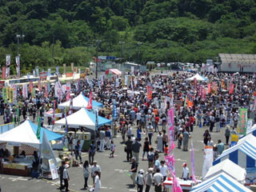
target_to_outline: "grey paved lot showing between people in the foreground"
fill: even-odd
[[[201,176],[202,173],[202,162],[203,162],[203,143],[202,143],[202,134],[206,128],[194,128],[194,132],[191,133],[192,140],[194,143],[195,150],[195,169],[196,175]],[[134,135],[135,134],[135,130]],[[157,134],[154,134],[155,140]],[[212,133],[212,138],[214,142],[218,141],[218,138],[221,138],[224,141],[224,130],[220,133]],[[146,135],[142,135],[142,142]],[[110,152],[98,152],[95,155],[95,159],[98,161],[98,165],[102,168],[102,191],[136,191],[135,188],[130,186],[132,183],[130,178],[127,175],[127,171],[130,170],[130,162],[126,162],[126,154],[124,152],[124,146],[121,143],[121,135],[118,134],[117,138],[114,138],[114,142],[117,145],[115,157],[110,158]],[[176,142],[177,143],[177,142]],[[156,148],[156,144],[153,143],[153,147]],[[189,145],[190,149],[190,145]],[[57,151],[56,151],[57,152]],[[142,156],[142,149],[140,156]],[[160,158],[163,159],[164,154],[160,155]],[[177,176],[182,175],[182,163],[186,162],[190,168],[190,151],[184,152],[179,149],[174,149],[174,156],[176,159],[176,172]],[[142,157],[141,157],[142,158]],[[82,154],[82,160],[88,159],[86,153]],[[140,159],[138,169],[147,170],[147,162]],[[191,171],[191,169],[190,169]],[[191,172],[190,172],[191,173]],[[70,190],[71,191],[82,191],[84,179],[82,175],[82,166],[81,167],[70,167]],[[31,179],[18,177],[13,175],[0,174],[0,185],[2,191],[58,191],[59,180],[45,180],[45,179]],[[92,185],[92,179],[89,178],[89,184]],[[151,189],[153,191],[153,189]]]

